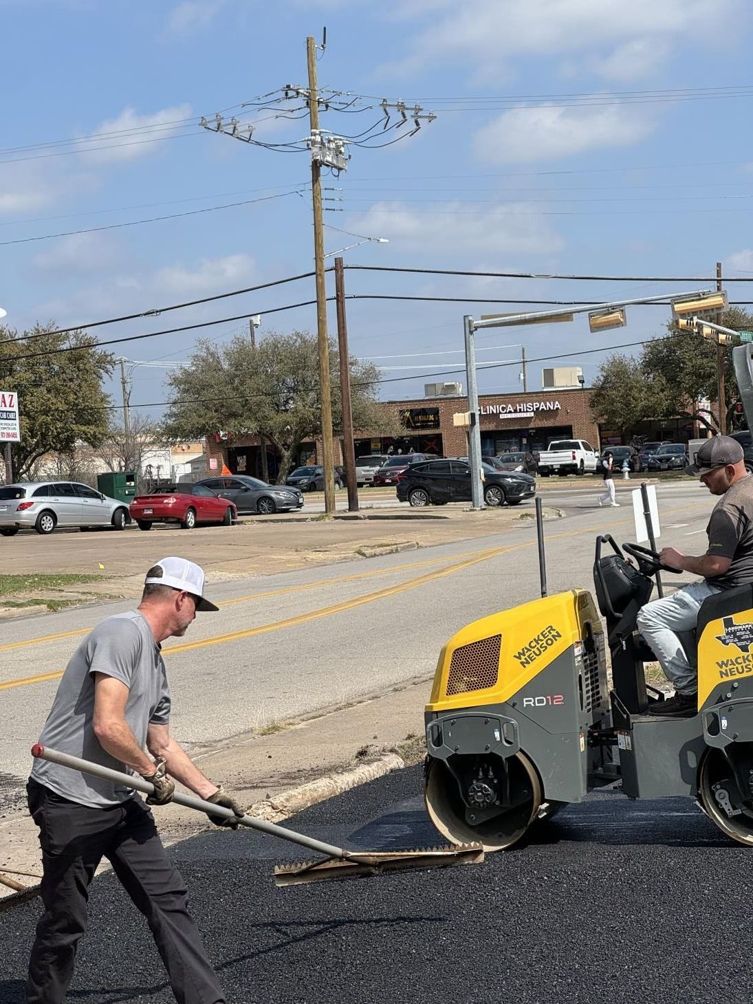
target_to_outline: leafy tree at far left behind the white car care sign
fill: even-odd
[[[55,334],[36,324],[19,337],[0,325],[0,387],[18,394],[21,439],[12,446],[13,473],[24,478],[46,453],[71,453],[77,443],[97,446],[110,421],[102,381],[112,371],[109,352],[82,331]],[[70,351],[54,349],[72,346]]]

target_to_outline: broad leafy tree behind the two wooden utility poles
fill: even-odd
[[[338,365],[330,342],[335,432],[342,428]],[[354,427],[393,432],[394,423],[376,400],[376,366],[351,357],[349,367]],[[280,482],[301,444],[321,433],[317,341],[308,331],[270,333],[256,348],[241,336],[225,345],[202,340],[189,365],[168,380],[173,395],[165,420],[168,436],[194,439],[223,432],[228,445],[234,437],[264,436],[280,457]]]

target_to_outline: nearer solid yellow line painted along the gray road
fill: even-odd
[[[680,509],[671,509],[669,512],[681,511]],[[630,519],[619,520],[616,524],[612,523],[611,526],[623,526],[630,523]],[[549,534],[547,539],[557,540],[564,537],[577,537],[582,536],[585,533],[599,532],[600,527],[586,526],[579,530],[568,530],[563,533],[553,533]],[[497,557],[501,554],[507,554],[511,551],[521,550],[525,547],[532,547],[536,543],[536,540],[527,540],[519,544],[513,544],[502,547],[494,547],[488,550],[480,552],[468,552],[473,553],[474,556],[468,560],[456,562],[455,564],[450,564],[445,568],[440,568],[437,571],[428,572],[426,575],[421,575],[419,578],[410,579],[408,582],[402,582],[398,585],[388,586],[386,589],[380,589],[376,592],[369,592],[363,596],[357,596],[354,599],[346,599],[341,603],[335,603],[333,606],[323,606],[317,610],[311,610],[308,613],[301,613],[295,617],[287,617],[284,620],[274,620],[268,624],[261,624],[258,628],[249,628],[244,631],[231,632],[227,635],[216,635],[212,638],[203,639],[197,642],[188,642],[185,645],[175,645],[171,648],[164,650],[164,655],[169,656],[172,653],[180,652],[190,652],[193,649],[203,649],[212,645],[223,645],[227,642],[236,642],[244,638],[253,638],[256,635],[265,635],[273,631],[282,631],[286,628],[294,628],[298,624],[307,623],[310,620],[316,620],[320,617],[331,616],[334,613],[340,613],[344,610],[354,609],[357,606],[362,606],[365,603],[374,602],[378,599],[385,599],[388,596],[394,596],[401,592],[406,592],[409,589],[415,589],[420,585],[425,585],[427,582],[432,582],[438,578],[443,578],[446,575],[451,575],[456,571],[463,571],[465,568],[470,568],[475,564],[479,564],[482,561],[487,561],[489,558]],[[416,565],[421,564],[432,564],[432,561],[426,562],[415,562]],[[406,565],[398,565],[396,568],[407,567]],[[378,572],[364,572],[363,575],[376,574]],[[345,579],[360,578],[363,575],[351,575],[345,576]],[[329,580],[332,581],[332,580]],[[291,586],[291,589],[297,589],[298,586]],[[275,590],[279,591],[279,590]],[[264,594],[262,594],[264,595]],[[43,683],[47,680],[58,680],[63,675],[62,670],[58,670],[54,673],[42,673],[31,677],[21,677],[16,680],[8,680],[5,683],[0,683],[0,690],[10,690],[14,687],[24,687],[28,684]]]

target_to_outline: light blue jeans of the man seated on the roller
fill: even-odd
[[[698,692],[698,654],[693,633],[701,603],[715,592],[721,592],[716,585],[693,582],[678,589],[674,596],[647,603],[638,614],[638,630],[678,694]]]

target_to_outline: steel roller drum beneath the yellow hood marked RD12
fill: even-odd
[[[541,782],[525,753],[516,753],[505,763],[510,793],[517,804],[476,825],[470,818],[473,809],[461,797],[458,782],[445,762],[430,759],[424,800],[443,836],[454,843],[482,843],[484,850],[506,850],[525,836],[541,805]]]

